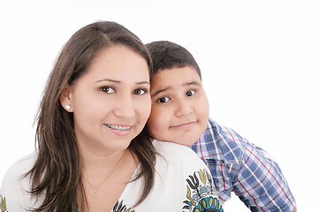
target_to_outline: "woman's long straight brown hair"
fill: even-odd
[[[73,116],[59,99],[64,88],[86,72],[98,51],[116,44],[124,44],[144,57],[151,75],[148,49],[135,34],[114,22],[98,21],[82,27],[57,57],[36,117],[37,160],[25,175],[31,178],[29,193],[41,201],[38,208],[32,208],[34,211],[77,211],[85,201]],[[154,185],[155,150],[143,132],[132,140],[129,150],[140,161],[137,178],[144,178],[139,204]]]

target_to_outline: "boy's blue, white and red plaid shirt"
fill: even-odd
[[[233,191],[251,211],[292,211],[296,206],[274,159],[233,130],[209,119],[192,148],[208,165],[222,203]]]

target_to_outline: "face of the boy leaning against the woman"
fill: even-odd
[[[151,81],[148,129],[157,140],[191,146],[208,125],[208,99],[192,66],[165,69]]]

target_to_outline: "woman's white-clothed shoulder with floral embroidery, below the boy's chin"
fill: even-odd
[[[155,200],[173,193],[165,201],[169,206],[166,210],[201,211],[200,207],[205,204],[211,211],[223,211],[208,167],[191,148],[160,140],[154,140],[153,145],[158,155],[152,191]]]

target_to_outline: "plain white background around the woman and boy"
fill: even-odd
[[[106,2],[1,1],[0,180],[34,149],[35,112],[64,42],[102,19],[123,24],[145,43],[169,40],[192,52],[210,117],[276,158],[299,211],[316,208],[315,1]],[[224,209],[248,211],[234,194]]]

